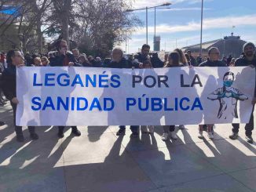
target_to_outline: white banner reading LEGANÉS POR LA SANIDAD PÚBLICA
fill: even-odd
[[[20,67],[17,125],[247,123],[255,69]]]

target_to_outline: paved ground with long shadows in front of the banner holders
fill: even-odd
[[[177,130],[179,139],[164,143],[154,136],[117,137],[118,127],[38,128],[40,138],[17,143],[12,110],[0,108],[0,191],[256,191],[256,145],[228,139],[231,125],[217,125],[215,139],[197,138],[197,127]],[[254,139],[256,139],[254,131]]]

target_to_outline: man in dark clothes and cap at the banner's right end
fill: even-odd
[[[254,55],[255,51],[255,45],[252,42],[247,42],[243,45],[243,56],[240,56],[235,61],[235,67],[243,67],[243,66],[251,66],[255,67],[256,66],[256,56]],[[256,103],[256,89],[254,89],[254,100],[252,100],[252,104]],[[240,129],[239,124],[232,124],[232,135],[229,136],[230,139],[237,139],[238,138],[238,132]],[[253,143],[254,139],[252,138],[252,130],[254,129],[254,107],[251,112],[251,118],[249,123],[245,125],[245,134],[246,134],[246,139],[248,143]]]

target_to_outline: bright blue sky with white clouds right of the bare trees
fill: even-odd
[[[170,2],[171,9],[156,9],[156,35],[161,36],[160,49],[171,51],[177,47],[200,42],[201,0],[135,0],[133,8],[161,5]],[[133,12],[144,26],[128,41],[127,53],[135,53],[146,42],[146,12]],[[148,10],[148,44],[153,49],[154,9]],[[235,26],[235,28],[232,28]],[[255,0],[204,0],[203,42],[240,35],[241,39],[256,43]],[[126,43],[121,47],[126,50]]]

